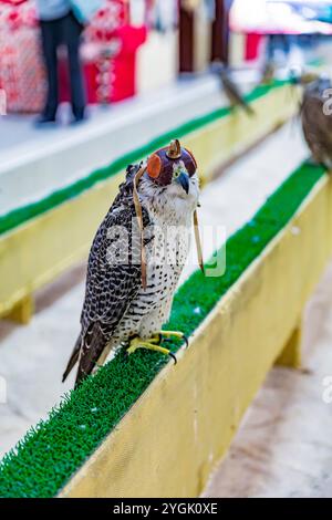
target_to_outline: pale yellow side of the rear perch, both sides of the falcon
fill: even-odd
[[[256,117],[236,110],[181,139],[195,152],[205,183],[293,115],[297,103],[290,89],[273,89],[253,102]],[[0,316],[28,323],[33,292],[86,257],[123,176],[111,177],[0,237]]]

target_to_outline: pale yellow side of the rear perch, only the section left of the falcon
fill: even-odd
[[[28,323],[27,298],[87,256],[120,180],[113,177],[0,237],[0,316]]]

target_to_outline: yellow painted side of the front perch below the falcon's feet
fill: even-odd
[[[279,360],[298,366],[303,306],[331,256],[331,181],[222,298],[60,497],[197,497]]]

